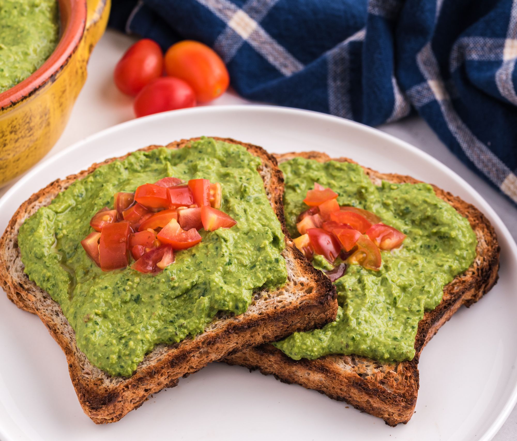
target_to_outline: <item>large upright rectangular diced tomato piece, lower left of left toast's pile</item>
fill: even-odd
[[[131,228],[128,222],[104,225],[99,241],[99,261],[102,271],[117,270],[127,266],[130,232]]]

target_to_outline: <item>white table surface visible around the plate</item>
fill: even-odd
[[[116,62],[133,41],[135,39],[111,30],[102,37],[90,58],[88,79],[73,108],[67,128],[48,153],[47,158],[88,135],[133,118],[133,100],[115,88],[112,76]],[[229,92],[210,103],[210,105],[225,104],[250,104],[250,102]],[[382,125],[379,129],[431,154],[464,178],[491,204],[503,219],[514,240],[517,240],[517,209],[508,199],[460,162],[422,119],[407,118],[401,122]],[[49,177],[49,181],[53,178]],[[11,185],[12,183],[0,188],[0,196]],[[508,420],[493,439],[494,441],[517,439],[517,407],[513,409]]]

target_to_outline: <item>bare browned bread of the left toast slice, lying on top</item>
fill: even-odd
[[[181,140],[168,148],[187,148],[199,138]],[[0,286],[19,308],[35,313],[47,326],[52,337],[66,354],[70,377],[81,406],[96,423],[114,422],[139,407],[151,393],[173,387],[181,376],[187,376],[224,357],[232,350],[278,340],[296,330],[312,329],[334,320],[337,312],[336,290],[320,271],[303,258],[293,245],[285,228],[282,206],[283,178],[277,161],[261,147],[232,139],[216,138],[239,144],[262,160],[258,170],[271,207],[277,214],[285,234],[282,255],[287,264],[287,284],[277,291],[256,292],[248,310],[240,316],[219,314],[204,332],[174,345],[158,345],[147,354],[131,377],[114,377],[90,364],[75,340],[72,327],[59,304],[38,288],[23,272],[17,237],[24,220],[38,208],[47,206],[72,182],[86,177],[97,167],[94,164],[77,175],[56,180],[26,200],[11,218],[0,239]],[[150,146],[151,150],[159,146]]]

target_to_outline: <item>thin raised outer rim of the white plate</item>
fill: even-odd
[[[80,149],[83,147],[83,145],[94,142],[96,139],[108,136],[112,133],[116,133],[118,131],[124,131],[128,127],[133,127],[138,125],[145,125],[149,121],[159,121],[160,119],[168,120],[171,117],[175,116],[183,116],[183,115],[189,115],[192,114],[194,117],[196,115],[202,115],[206,113],[221,113],[221,112],[264,112],[264,113],[279,113],[279,114],[286,114],[286,115],[307,115],[309,117],[315,118],[315,119],[322,119],[322,120],[330,120],[333,122],[337,122],[341,125],[344,125],[347,127],[347,130],[358,130],[362,131],[364,133],[368,133],[370,135],[373,135],[379,139],[384,139],[389,141],[390,143],[397,144],[399,147],[403,148],[406,151],[410,151],[413,154],[417,154],[420,156],[420,158],[425,161],[431,163],[433,166],[439,168],[443,172],[445,172],[448,176],[450,176],[454,181],[456,181],[458,184],[460,184],[464,190],[472,196],[476,203],[480,203],[482,205],[482,212],[490,218],[490,221],[496,226],[497,230],[502,233],[504,239],[509,244],[508,252],[510,254],[513,254],[514,257],[517,258],[517,245],[515,244],[515,241],[510,234],[508,228],[504,224],[503,220],[499,217],[499,215],[495,212],[495,210],[490,206],[490,204],[475,190],[475,188],[470,185],[464,178],[462,178],[460,175],[458,175],[455,171],[447,167],[444,163],[438,161],[436,158],[434,158],[429,153],[413,146],[412,144],[408,143],[407,141],[404,141],[400,138],[397,138],[396,136],[393,136],[389,133],[383,132],[381,130],[378,130],[376,128],[370,127],[368,125],[355,122],[352,120],[340,118],[333,115],[323,114],[320,112],[315,111],[308,111],[305,109],[298,109],[298,108],[292,108],[292,107],[282,107],[282,106],[272,106],[272,105],[264,105],[264,104],[231,104],[231,105],[220,105],[220,106],[201,106],[201,107],[193,107],[188,109],[179,109],[176,111],[170,111],[170,112],[163,112],[155,115],[149,115],[143,118],[136,118],[132,120],[128,120],[125,122],[121,122],[119,124],[113,125],[109,128],[103,129],[99,132],[96,132],[92,135],[89,135],[83,139],[80,139],[76,141],[75,143],[69,145],[68,147],[64,148],[63,150],[53,154],[52,156],[48,158],[43,158],[36,166],[34,166],[31,170],[29,170],[26,174],[24,174],[21,178],[18,179],[16,183],[14,183],[7,192],[0,197],[0,210],[2,209],[2,206],[4,203],[6,203],[7,200],[9,200],[16,192],[20,189],[20,187],[24,186],[31,178],[35,175],[37,175],[41,169],[44,167],[47,167],[51,165],[53,162],[58,161],[63,156],[67,156],[71,154],[73,151]],[[208,136],[208,135],[207,135]],[[246,141],[243,141],[246,142]],[[441,141],[440,141],[441,142]],[[108,157],[112,157],[109,156]],[[98,161],[102,161],[107,158],[99,159]],[[89,165],[85,165],[86,169]],[[79,170],[78,170],[79,171]],[[58,179],[57,177],[51,178],[51,179]],[[63,178],[60,178],[63,179]],[[38,189],[39,190],[39,189]],[[35,190],[35,191],[38,191]],[[3,231],[2,231],[3,233]],[[500,239],[500,238],[499,238]],[[507,400],[507,402],[504,404],[504,406],[501,408],[501,411],[497,415],[497,417],[492,421],[489,428],[486,429],[486,431],[483,433],[483,435],[479,438],[480,441],[489,441],[492,439],[496,433],[499,431],[501,426],[503,426],[504,422],[512,412],[513,408],[517,404],[517,382],[513,385],[513,390]],[[0,413],[0,416],[2,416],[4,412]],[[7,415],[8,416],[8,415]],[[13,422],[15,422],[13,420]],[[16,422],[15,422],[16,423]],[[4,424],[0,426],[0,438],[2,438],[4,441],[13,441],[13,438],[4,431],[3,429]]]

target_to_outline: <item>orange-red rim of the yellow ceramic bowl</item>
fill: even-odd
[[[61,36],[50,57],[31,75],[0,93],[0,111],[33,95],[67,64],[77,49],[86,26],[86,0],[58,0]]]

